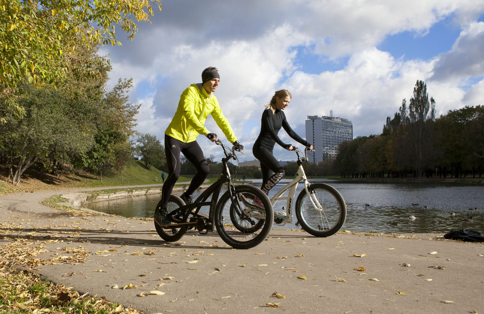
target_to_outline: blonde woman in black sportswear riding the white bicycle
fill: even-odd
[[[288,90],[278,90],[272,96],[271,102],[267,105],[262,113],[260,134],[257,137],[252,153],[254,157],[260,162],[260,170],[262,172],[262,187],[261,190],[265,194],[269,194],[272,187],[284,177],[284,168],[279,164],[277,159],[272,155],[272,150],[277,142],[286,150],[293,150],[291,144],[285,144],[277,136],[281,127],[286,130],[287,134],[302,145],[313,149],[313,145],[303,140],[297,135],[287,123],[286,115],[283,110],[289,105],[292,96]],[[274,174],[271,176],[271,170]],[[254,201],[260,205],[260,200],[257,198]]]

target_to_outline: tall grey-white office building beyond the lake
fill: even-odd
[[[353,140],[353,124],[343,118],[307,116],[306,141],[314,145],[314,162],[336,157],[338,145]]]

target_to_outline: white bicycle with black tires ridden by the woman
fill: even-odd
[[[274,208],[274,223],[277,225],[285,225],[292,223],[292,205],[294,204],[294,196],[296,189],[301,180],[304,184],[304,189],[296,198],[296,225],[301,225],[309,234],[316,237],[329,237],[341,229],[346,220],[346,203],[343,196],[329,184],[325,183],[310,183],[304,168],[303,162],[307,162],[307,148],[302,152],[294,148],[298,159],[297,164],[299,169],[294,179],[287,183],[279,192],[271,198],[272,207],[277,201],[286,200],[286,206],[282,207],[282,212],[276,212]],[[289,190],[287,196],[283,194]],[[256,202],[254,205],[259,207],[258,211],[247,211],[242,217],[238,215],[235,210],[230,210],[230,219],[232,224],[239,230],[245,232],[255,232],[265,222],[265,210],[263,206],[259,206]]]

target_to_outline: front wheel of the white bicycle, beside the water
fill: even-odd
[[[346,220],[343,196],[331,185],[313,183],[296,199],[296,217],[302,228],[316,237],[329,237],[341,229]]]

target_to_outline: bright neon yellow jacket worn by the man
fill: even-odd
[[[177,111],[165,134],[185,143],[193,142],[199,134],[212,133],[203,126],[209,114],[230,143],[235,142],[237,137],[222,113],[217,98],[213,93],[209,95],[200,83],[192,84],[181,93]]]

